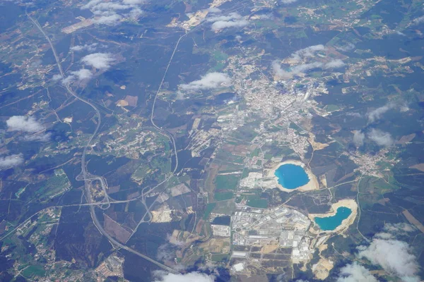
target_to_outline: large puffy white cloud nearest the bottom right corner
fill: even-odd
[[[372,239],[370,245],[360,246],[358,257],[365,257],[378,264],[389,274],[401,278],[403,281],[419,281],[419,266],[416,256],[413,255],[408,243],[400,240],[382,238]]]

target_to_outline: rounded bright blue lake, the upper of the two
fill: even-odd
[[[310,180],[305,169],[295,164],[283,164],[274,174],[278,177],[278,183],[286,189],[299,188]]]

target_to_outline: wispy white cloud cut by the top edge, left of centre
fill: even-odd
[[[81,9],[89,9],[95,15],[94,23],[98,25],[117,25],[124,18],[136,19],[143,11],[140,8],[142,0],[112,0],[104,2],[102,0],[91,0],[81,6]]]

